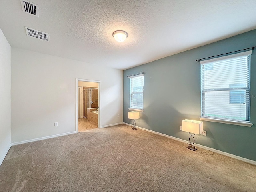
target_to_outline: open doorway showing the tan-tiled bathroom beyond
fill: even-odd
[[[100,81],[76,79],[76,132],[100,128]]]

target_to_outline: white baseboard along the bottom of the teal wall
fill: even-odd
[[[128,126],[133,126],[132,124],[128,124],[128,123],[125,123],[125,122],[124,122],[124,124],[126,124]],[[162,133],[159,133],[159,132],[156,132],[156,131],[152,131],[152,130],[145,129],[145,128],[138,127],[138,126],[136,126],[136,128],[142,129],[142,130],[154,133],[154,134],[158,134],[158,135],[161,135],[161,136],[164,136],[164,137],[168,137],[168,138],[171,138],[171,139],[183,142],[183,143],[188,143],[188,141],[186,141],[186,140],[183,140],[183,139],[180,139],[180,138],[176,138],[176,137],[173,137],[173,136],[169,136],[169,135],[166,135],[166,134],[162,134]],[[244,161],[246,163],[250,163],[250,164],[256,165],[256,161],[253,161],[253,160],[250,160],[250,159],[246,159],[246,158],[243,158],[243,157],[240,157],[240,156],[236,156],[236,155],[233,155],[233,154],[230,154],[230,153],[226,153],[226,152],[223,152],[223,151],[220,151],[220,150],[216,150],[214,148],[210,148],[210,147],[207,147],[207,146],[204,146],[204,145],[200,145],[200,144],[193,144],[193,145],[196,146],[196,147],[205,149],[205,150],[212,151],[214,153],[222,154],[222,155],[234,158],[234,159],[238,159],[238,160]]]

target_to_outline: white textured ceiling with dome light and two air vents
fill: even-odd
[[[1,29],[11,46],[127,69],[256,29],[256,1],[0,1]],[[49,42],[25,28],[50,34]],[[128,32],[116,42],[112,33]]]

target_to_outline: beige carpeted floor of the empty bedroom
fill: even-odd
[[[254,192],[256,166],[126,125],[12,146],[1,192]]]

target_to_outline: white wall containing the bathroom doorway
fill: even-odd
[[[122,70],[11,51],[12,143],[76,131],[76,78],[101,82],[101,126],[123,122]]]

